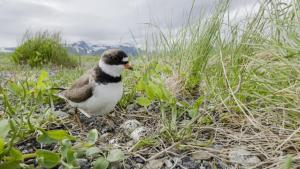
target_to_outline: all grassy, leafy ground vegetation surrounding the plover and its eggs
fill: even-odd
[[[0,168],[299,167],[300,1],[261,2],[239,21],[228,19],[229,3],[176,32],[153,27],[151,50],[123,75],[110,128],[105,116],[82,117],[80,129],[51,90],[99,57],[68,67],[78,58],[55,33],[1,56]],[[126,134],[126,120],[143,136]]]

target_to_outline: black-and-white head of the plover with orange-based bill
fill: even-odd
[[[105,51],[99,61],[100,68],[107,74],[117,77],[124,69],[132,70],[127,54],[120,49],[109,49]]]

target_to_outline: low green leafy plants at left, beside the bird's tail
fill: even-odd
[[[33,167],[24,163],[32,158],[38,161],[38,168],[63,165],[69,169],[79,168],[76,160],[83,156],[98,158],[98,162],[103,157],[107,167],[110,162],[123,160],[121,150],[102,155],[105,151],[95,146],[96,129],[89,131],[85,140],[70,135],[67,130],[46,129],[49,123],[59,120],[52,110],[55,102],[54,91],[49,90],[52,86],[55,82],[50,80],[48,72],[41,70],[36,80],[8,81],[6,88],[0,87],[0,101],[4,105],[4,116],[0,119],[0,169]],[[55,144],[57,148],[24,154],[16,144],[28,137],[35,137],[41,145]]]

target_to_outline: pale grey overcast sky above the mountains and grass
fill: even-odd
[[[256,0],[233,0],[230,12],[244,15]],[[176,29],[186,22],[192,0],[0,0],[0,46],[15,46],[28,29],[62,32],[70,42],[142,43],[144,23]],[[218,0],[196,0],[210,11]]]

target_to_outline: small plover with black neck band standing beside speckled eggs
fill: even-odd
[[[105,115],[112,111],[123,94],[121,74],[132,69],[128,56],[119,49],[105,51],[93,69],[58,94],[87,117]],[[77,116],[78,117],[78,116]]]

